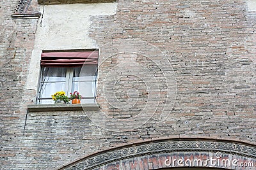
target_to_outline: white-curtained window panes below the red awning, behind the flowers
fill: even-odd
[[[72,84],[72,85],[71,85]],[[71,86],[70,86],[71,85]],[[51,95],[58,91],[78,91],[81,103],[95,103],[97,64],[84,67],[42,67],[38,104],[53,104]]]

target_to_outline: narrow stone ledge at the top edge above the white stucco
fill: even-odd
[[[38,0],[38,4],[113,3],[116,0]]]

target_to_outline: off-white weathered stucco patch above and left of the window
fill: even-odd
[[[114,15],[117,3],[60,4],[41,6],[35,37],[27,89],[36,89],[42,50],[70,50],[97,48],[89,37],[90,17]]]

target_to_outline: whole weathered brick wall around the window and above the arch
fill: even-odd
[[[175,74],[177,96],[173,107],[170,101],[170,108],[164,110],[170,113],[168,118],[159,120],[165,106],[161,99],[156,113],[131,131],[115,132],[97,127],[88,117],[93,118],[99,111],[86,111],[88,116],[84,111],[29,113],[25,135],[26,106],[33,103],[30,97],[36,94],[24,88],[37,20],[12,20],[10,15],[17,3],[1,2],[0,10],[1,169],[54,169],[104,148],[152,138],[208,137],[255,143],[256,14],[246,10],[246,1],[118,1],[116,15],[91,18],[90,37],[100,47],[136,38],[163,52],[162,58],[152,54],[147,59],[154,62],[167,59],[172,67],[164,67],[163,72]],[[127,44],[121,47],[127,46],[132,47]],[[134,46],[134,49],[138,48]],[[108,65],[104,64],[116,66],[118,49],[101,50],[102,58],[106,57],[104,52],[113,54],[108,58],[110,62],[101,60],[100,66],[104,67],[99,74],[104,75],[109,72]],[[147,46],[138,53],[150,52],[152,48]],[[131,62],[132,58],[126,61]],[[140,63],[145,64],[147,70],[151,68],[149,60]],[[156,65],[151,66],[150,70],[156,72]],[[117,77],[122,75],[116,73]],[[104,79],[99,80],[99,103],[109,115],[114,117],[116,111],[116,117],[125,121],[145,106],[145,78],[139,81],[133,75],[131,82],[136,82],[133,84],[127,83],[127,78],[118,81],[116,97],[121,101],[127,100],[124,94],[129,87],[145,87],[139,90],[144,97],[139,95],[137,110],[131,112],[118,112],[104,101]],[[161,89],[164,85],[166,83]],[[160,94],[164,95],[164,92]],[[103,127],[118,125],[105,123]]]

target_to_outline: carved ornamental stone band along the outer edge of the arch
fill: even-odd
[[[228,157],[233,155],[232,157],[243,157],[248,158],[248,160],[256,159],[256,146],[245,143],[216,141],[213,139],[166,139],[164,141],[150,141],[137,145],[122,146],[95,153],[84,159],[77,160],[68,166],[62,167],[61,169],[98,169],[106,164],[115,164],[115,162],[121,161],[125,162],[125,160],[134,157],[142,157],[145,155],[159,157],[159,155],[167,153],[164,155],[164,157],[166,157],[166,155],[176,152],[179,152],[179,154],[185,152],[189,152],[189,154],[224,153],[227,154]],[[156,156],[157,154],[159,155]]]

